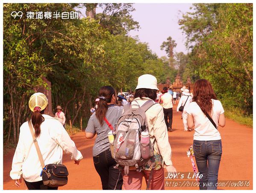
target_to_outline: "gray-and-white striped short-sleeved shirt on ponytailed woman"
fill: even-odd
[[[124,107],[115,106],[113,104],[109,105],[109,108],[106,112],[106,118],[113,127],[118,122],[118,119],[123,114]],[[109,126],[103,120],[103,125],[100,125],[99,120],[97,119],[95,112],[91,115],[85,132],[87,133],[97,133],[97,137],[92,148],[92,156],[97,156],[103,151],[109,149],[109,139],[108,133],[110,131]]]

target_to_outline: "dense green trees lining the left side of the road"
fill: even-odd
[[[115,10],[120,5],[109,4],[108,9]],[[30,95],[38,86],[49,89],[45,78],[51,83],[53,107],[61,105],[72,125],[79,125],[78,120],[83,117],[85,126],[101,86],[128,91],[135,89],[138,77],[144,73],[152,72],[159,82],[176,73],[166,60],[152,53],[147,43],[126,35],[133,24],[122,26],[126,22],[122,19],[129,18],[131,5],[117,10],[115,17],[121,19],[120,28],[115,28],[115,23],[104,26],[91,17],[33,20],[10,16],[13,10],[70,12],[76,6],[79,5],[4,4],[4,141],[17,141],[19,127],[30,115]],[[118,33],[112,33],[112,27]]]

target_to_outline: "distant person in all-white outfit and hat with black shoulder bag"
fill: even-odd
[[[179,104],[177,106],[177,112],[179,112],[179,107],[183,106],[184,109],[182,111],[182,121],[183,121],[183,126],[184,126],[184,131],[191,131],[191,129],[188,130],[188,124],[187,124],[187,118],[188,118],[188,113],[187,113],[187,107],[189,106],[192,97],[190,96],[189,90],[185,89],[182,92],[182,97],[179,99]]]

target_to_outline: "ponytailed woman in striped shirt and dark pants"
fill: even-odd
[[[116,106],[117,95],[115,89],[111,86],[103,86],[99,92],[100,101],[98,108],[91,115],[88,125],[85,129],[86,138],[94,138],[97,133],[97,137],[92,149],[92,156],[94,167],[97,173],[100,175],[102,189],[103,190],[122,190],[123,179],[120,171],[115,169],[116,161],[112,158],[108,133],[110,131],[109,126],[104,121],[104,117],[109,123],[115,127],[118,119],[123,113],[124,107]]]

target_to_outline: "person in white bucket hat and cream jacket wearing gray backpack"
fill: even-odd
[[[157,95],[156,92],[158,90],[156,77],[148,74],[141,75],[138,78],[138,85],[135,89],[134,100],[131,102],[132,108],[141,107],[149,100],[155,101]],[[124,172],[122,172],[124,190],[140,190],[143,176],[147,182],[149,180],[151,170],[153,170],[153,177],[150,189],[164,190],[164,167],[166,167],[168,173],[177,173],[171,161],[171,145],[168,139],[163,107],[160,104],[155,103],[145,112],[145,115],[149,129],[150,141],[152,144],[155,141],[153,144],[154,156],[142,166],[141,172],[138,173],[131,167],[129,167],[129,176],[125,176]]]

